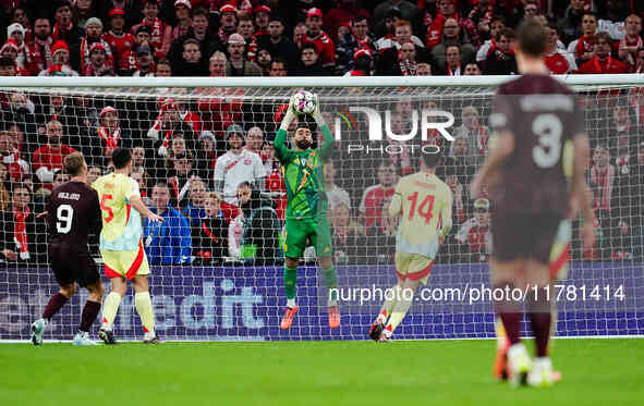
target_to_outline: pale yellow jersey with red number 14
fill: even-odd
[[[418,172],[398,182],[392,207],[397,199],[400,199],[401,210],[396,250],[434,259],[438,251],[441,219],[452,216],[451,189],[435,174]]]

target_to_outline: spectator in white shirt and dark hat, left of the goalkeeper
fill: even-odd
[[[228,127],[226,140],[230,149],[217,158],[215,165],[215,192],[231,205],[236,204],[236,190],[242,182],[248,182],[256,190],[265,189],[266,171],[262,158],[243,148],[243,135],[244,130],[240,125]]]

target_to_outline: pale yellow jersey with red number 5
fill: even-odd
[[[141,196],[138,184],[122,173],[110,173],[92,184],[98,192],[102,213],[100,249],[135,250],[143,235],[141,214],[130,199]]]

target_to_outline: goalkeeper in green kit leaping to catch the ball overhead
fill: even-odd
[[[288,128],[296,116],[293,98],[275,138],[275,155],[282,165],[288,199],[283,247],[287,308],[280,325],[282,330],[291,327],[293,317],[297,312],[295,280],[300,258],[307,242],[315,247],[318,266],[321,268],[325,285],[329,290],[329,327],[337,329],[340,325],[338,292],[335,290],[338,281],[332,261],[331,232],[327,218],[328,200],[323,177],[323,165],[331,158],[333,150],[333,136],[319,112],[317,96],[315,99],[315,110],[311,115],[324,135],[324,143],[319,148],[311,148],[313,133],[304,115],[297,120],[293,136],[295,149],[287,148],[284,143]]]

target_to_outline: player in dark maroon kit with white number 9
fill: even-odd
[[[89,256],[87,233],[100,232],[100,205],[96,190],[87,185],[87,164],[83,153],[66,156],[64,170],[72,179],[51,192],[44,213],[49,226],[49,261],[60,291],[49,299],[42,318],[32,324],[32,343],[42,344],[47,324],[70,300],[77,283],[89,291],[89,297],[73,344],[97,345],[89,339],[89,328],[100,311],[104,291],[98,268]]]

